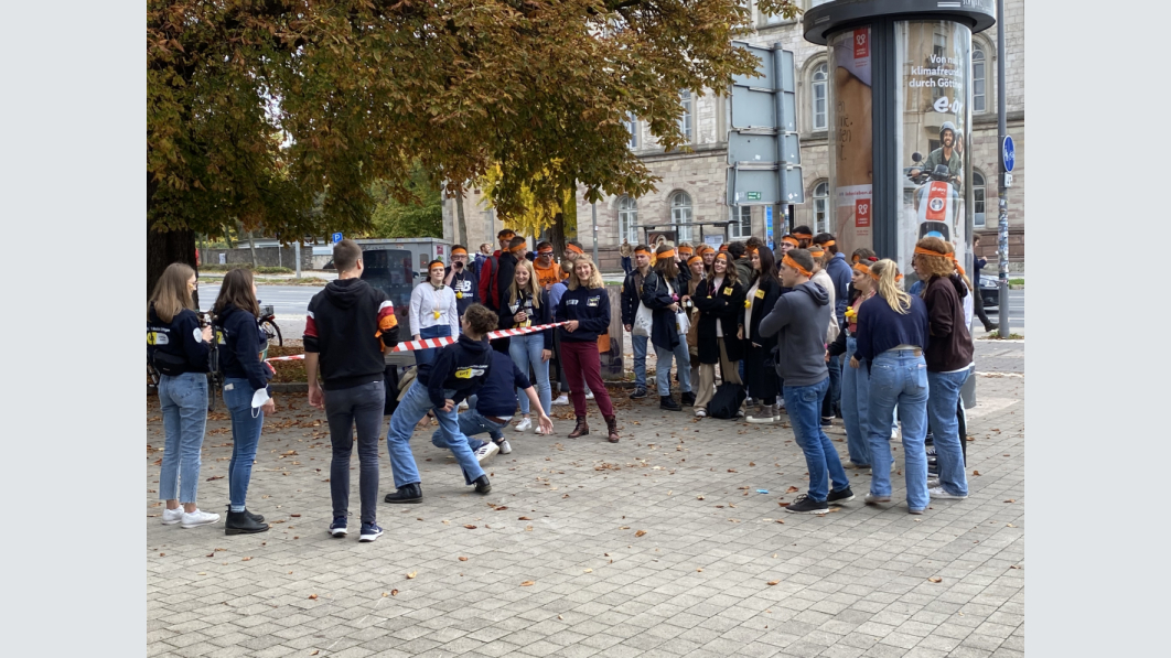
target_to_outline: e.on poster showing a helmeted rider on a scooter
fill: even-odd
[[[956,258],[965,262],[972,225],[972,32],[952,21],[899,21],[895,43],[903,166],[895,191],[902,199],[897,260],[913,281],[911,255],[923,237],[954,244]]]

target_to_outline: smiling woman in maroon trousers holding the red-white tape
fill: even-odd
[[[574,260],[568,287],[557,303],[554,320],[566,322],[563,327],[557,327],[557,335],[566,377],[569,379],[569,396],[577,416],[577,424],[569,438],[589,434],[589,425],[586,423],[586,386],[589,386],[602,417],[605,418],[607,440],[616,444],[619,439],[618,421],[614,416],[610,393],[602,382],[602,361],[597,351],[598,336],[610,330],[610,297],[605,294],[602,273],[586,254]]]

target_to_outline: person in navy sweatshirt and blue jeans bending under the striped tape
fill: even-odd
[[[439,348],[433,362],[418,365],[418,376],[390,417],[386,447],[398,491],[386,494],[386,502],[423,501],[423,484],[410,441],[415,424],[429,410],[434,412],[443,431],[440,441],[431,443],[441,444],[440,447],[446,447],[456,455],[456,461],[464,469],[465,482],[475,485],[475,493],[482,495],[492,491],[488,475],[467,447],[467,437],[459,431],[457,406],[468,396],[475,395],[492,369],[487,334],[497,328],[498,316],[485,306],[472,304],[464,311],[460,322],[463,331],[459,340]]]

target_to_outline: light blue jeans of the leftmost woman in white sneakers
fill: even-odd
[[[199,451],[207,429],[207,376],[203,372],[160,375],[158,402],[163,406],[166,432],[158,498],[193,503],[199,491]]]

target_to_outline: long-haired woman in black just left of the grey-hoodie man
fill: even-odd
[[[745,376],[748,379],[748,395],[756,402],[758,409],[748,414],[748,423],[772,423],[780,419],[776,410],[778,379],[773,368],[773,350],[776,349],[776,336],[760,335],[760,321],[776,306],[781,296],[781,280],[776,276],[776,263],[773,252],[765,247],[749,247],[748,258],[756,279],[747,290],[745,304]]]

